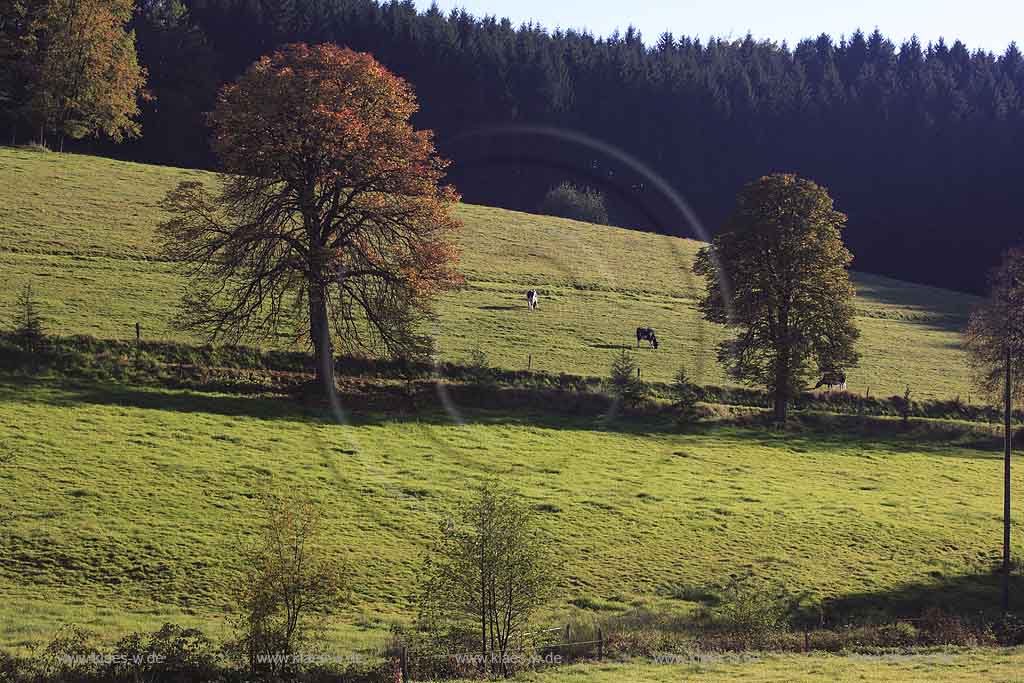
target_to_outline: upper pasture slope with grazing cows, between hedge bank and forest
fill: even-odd
[[[0,268],[8,295],[31,282],[51,330],[129,338],[136,322],[156,339],[187,339],[171,317],[181,280],[154,260],[157,203],[200,171],[0,148]],[[842,206],[842,198],[839,198]],[[459,236],[465,290],[438,306],[441,356],[479,348],[493,364],[604,375],[615,349],[635,344],[638,326],[662,348],[639,354],[644,376],[668,380],[685,365],[709,384],[728,384],[714,359],[723,331],[694,309],[690,273],[699,244],[613,227],[463,205]],[[853,228],[851,228],[853,229]],[[852,391],[916,398],[969,398],[959,331],[967,295],[857,274],[861,367]],[[524,292],[541,291],[526,310]]]

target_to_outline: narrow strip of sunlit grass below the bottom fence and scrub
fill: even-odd
[[[658,665],[578,665],[528,674],[530,683],[669,683],[676,681],[868,681],[877,683],[1020,683],[1024,649],[931,652],[912,655],[734,655],[722,660]]]

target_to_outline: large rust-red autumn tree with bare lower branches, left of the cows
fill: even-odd
[[[334,391],[333,347],[422,355],[419,323],[457,286],[458,195],[416,131],[412,88],[373,56],[288,45],[220,93],[219,190],[165,199],[164,253],[186,264],[181,322],[213,339],[292,332]],[[332,334],[333,333],[333,334]]]

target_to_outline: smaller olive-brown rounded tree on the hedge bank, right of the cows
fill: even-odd
[[[823,187],[768,175],[743,188],[694,263],[708,283],[705,317],[737,330],[719,360],[735,379],[768,387],[777,421],[809,379],[857,364],[845,223]]]

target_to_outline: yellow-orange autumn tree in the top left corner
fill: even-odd
[[[42,134],[121,141],[139,134],[145,70],[127,31],[132,0],[47,0],[31,109]]]

